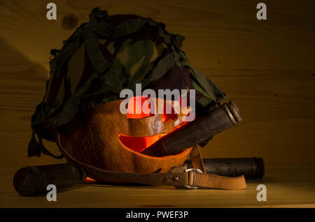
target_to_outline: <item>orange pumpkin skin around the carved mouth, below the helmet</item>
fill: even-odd
[[[176,122],[173,119],[162,122],[161,114],[128,119],[127,114],[120,113],[122,101],[111,101],[78,112],[60,133],[66,151],[78,161],[114,172],[169,172],[173,166],[186,161],[191,148],[172,156],[153,157],[123,146],[118,133],[133,137],[168,133],[175,124],[183,121],[183,116],[180,114]]]

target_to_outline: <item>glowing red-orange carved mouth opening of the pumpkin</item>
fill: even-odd
[[[177,125],[172,131],[169,131],[169,133],[175,131],[177,128],[180,128],[181,126],[184,126],[186,124],[188,124],[188,121],[182,121],[181,124]],[[150,147],[151,145],[153,145],[153,143],[157,142],[158,140],[160,140],[160,138],[162,138],[165,135],[167,135],[167,133],[146,137],[133,137],[130,135],[125,135],[123,133],[118,133],[118,138],[123,147],[141,153],[141,151],[144,151],[144,149]]]

